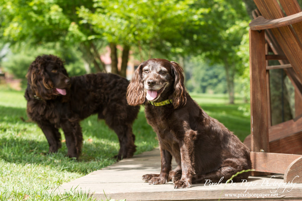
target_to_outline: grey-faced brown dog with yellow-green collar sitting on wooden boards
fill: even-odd
[[[145,105],[148,123],[157,134],[160,174],[143,175],[149,184],[173,181],[174,188],[192,183],[222,182],[251,168],[250,154],[230,130],[207,115],[186,92],[182,68],[165,59],[144,61],[128,86],[130,105]],[[171,170],[172,156],[178,166]],[[233,181],[246,179],[239,174]]]

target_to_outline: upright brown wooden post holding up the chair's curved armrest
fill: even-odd
[[[268,96],[264,30],[249,30],[251,89],[251,151],[269,152]],[[252,161],[254,167],[256,161]],[[257,169],[256,169],[257,171]],[[252,172],[252,176],[266,173]]]

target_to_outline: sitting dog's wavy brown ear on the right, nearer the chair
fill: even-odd
[[[172,95],[172,103],[174,108],[182,107],[187,102],[186,90],[184,85],[184,71],[178,63],[171,61],[171,70],[175,76],[174,80],[174,92]]]

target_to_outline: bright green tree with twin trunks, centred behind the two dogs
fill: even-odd
[[[92,25],[99,37],[104,37],[111,47],[112,71],[117,72],[116,45],[123,46],[121,70],[126,71],[129,50],[138,47],[138,55],[144,60],[143,52],[152,57],[152,50],[177,53],[189,35],[188,26],[196,26],[196,16],[203,11],[193,8],[194,0],[96,0],[94,11],[82,6],[78,10],[83,22]],[[193,22],[194,23],[191,23]],[[202,25],[202,24],[200,24]],[[191,37],[191,36],[190,36]],[[167,55],[167,54],[165,54]]]

